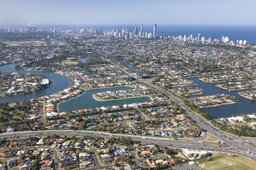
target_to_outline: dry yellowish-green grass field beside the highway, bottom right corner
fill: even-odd
[[[199,162],[199,167],[201,169],[208,170],[245,170],[245,169],[255,169],[256,163],[253,161],[243,158],[242,156],[228,156],[227,154],[214,154],[212,156],[212,161],[207,161],[207,158],[196,160]]]

